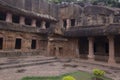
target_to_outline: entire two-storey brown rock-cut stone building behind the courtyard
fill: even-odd
[[[45,55],[120,63],[120,9],[12,2],[0,1],[0,57]]]

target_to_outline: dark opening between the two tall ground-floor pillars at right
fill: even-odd
[[[105,36],[98,36],[94,39],[95,42],[95,60],[96,61],[108,61],[109,55],[109,43]]]

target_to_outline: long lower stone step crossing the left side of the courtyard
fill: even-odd
[[[52,63],[57,61],[58,61],[57,59],[53,59],[53,60],[46,60],[46,61],[44,60],[44,61],[38,61],[38,62],[25,62],[25,63],[19,63],[19,64],[3,65],[3,66],[0,66],[0,70],[36,66],[36,65],[42,65],[42,64],[47,64],[47,63]]]

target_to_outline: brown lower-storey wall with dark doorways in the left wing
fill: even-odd
[[[40,54],[40,51],[45,54],[47,47],[47,39],[38,34],[26,33],[26,32],[15,32],[15,31],[4,31],[0,30],[0,57],[4,57],[5,55],[9,57],[16,56],[17,52],[19,52],[19,56],[29,55],[26,52],[31,52],[31,54]],[[39,44],[44,45],[39,45]],[[4,54],[4,53],[5,54]]]

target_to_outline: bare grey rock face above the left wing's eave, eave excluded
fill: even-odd
[[[9,5],[28,11],[33,11],[42,14],[49,14],[57,17],[58,6],[48,3],[46,0],[2,0]]]

